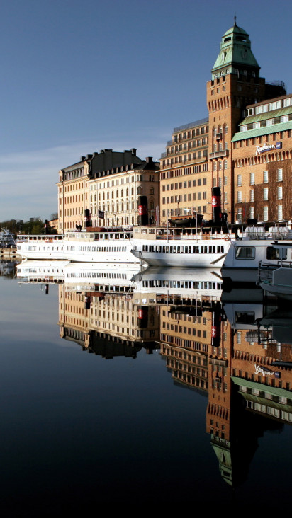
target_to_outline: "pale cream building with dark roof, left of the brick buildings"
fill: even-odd
[[[155,221],[159,205],[159,163],[142,161],[136,149],[82,156],[59,172],[58,231]],[[143,214],[141,214],[143,212]]]

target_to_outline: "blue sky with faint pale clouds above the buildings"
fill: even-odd
[[[159,160],[174,127],[208,117],[235,15],[261,76],[291,93],[291,14],[290,0],[1,0],[0,221],[50,219],[80,156]]]

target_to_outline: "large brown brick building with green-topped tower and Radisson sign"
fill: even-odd
[[[254,151],[255,154],[257,150],[257,148],[252,149],[251,146],[246,149],[245,141],[251,142],[251,139],[245,139],[242,131],[245,131],[247,125],[249,129],[250,124],[254,123],[251,138],[254,142],[257,139],[257,144],[252,145],[273,142],[276,136],[275,138],[281,141],[283,149],[286,150],[285,153],[283,151],[278,153],[277,158],[274,155],[273,159],[274,162],[286,161],[283,168],[281,164],[278,164],[278,167],[274,164],[266,168],[270,171],[270,178],[274,179],[278,169],[279,171],[283,169],[286,171],[285,174],[283,173],[285,176],[283,182],[288,185],[289,171],[291,171],[289,151],[291,144],[287,140],[290,139],[290,120],[287,119],[290,116],[287,105],[289,101],[286,100],[289,96],[285,95],[286,89],[283,83],[266,84],[259,71],[260,67],[252,53],[249,35],[235,22],[233,27],[223,35],[220,52],[211,70],[211,79],[207,83],[208,117],[174,128],[172,141],[167,142],[167,151],[162,154],[160,161],[162,224],[165,224],[169,217],[178,215],[193,217],[196,213],[201,213],[203,219],[211,219],[212,187],[220,187],[221,209],[228,214],[230,222],[244,221],[244,219],[247,221],[252,217],[264,221],[291,219],[288,195],[281,207],[281,203],[275,204],[274,194],[270,200],[263,200],[263,196],[266,197],[266,190],[263,194],[262,188],[259,192],[254,190],[254,195],[259,196],[257,205],[249,205],[247,212],[244,211],[247,200],[252,202],[249,200],[249,180],[253,178],[250,174],[254,173],[255,184],[263,183],[262,169],[261,173],[256,174],[256,170],[252,171],[246,167],[245,160],[252,163],[252,152]],[[269,103],[266,102],[267,100]],[[280,101],[281,108],[273,108],[276,110],[274,115],[278,128],[275,126],[274,131],[269,134],[269,129],[267,127],[263,129],[261,126],[264,125],[264,116],[256,113],[256,106],[277,106]],[[279,110],[284,108],[285,113],[279,113]],[[270,118],[272,116],[273,114]],[[268,120],[268,117],[266,119]],[[269,120],[270,124],[271,120]],[[281,126],[283,124],[285,127]],[[245,153],[241,149],[242,146],[245,146]],[[244,160],[243,163],[241,159]],[[258,164],[259,159],[257,158],[256,161]],[[254,163],[252,165],[254,166]],[[245,169],[238,171],[239,167],[245,167]],[[257,168],[257,171],[259,170],[260,168]],[[242,185],[237,185],[238,181],[242,181]],[[276,192],[275,188],[272,192]],[[277,190],[276,195],[281,195],[281,189]],[[263,204],[260,201],[266,203]],[[245,217],[243,217],[244,212]]]

